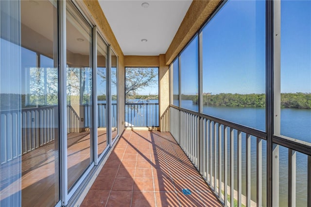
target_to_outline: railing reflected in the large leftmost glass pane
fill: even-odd
[[[55,112],[55,106],[1,111],[1,164],[52,142],[58,128]]]

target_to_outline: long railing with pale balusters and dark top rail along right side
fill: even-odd
[[[265,183],[269,160],[265,132],[173,105],[170,119],[171,134],[225,206],[267,205]],[[284,176],[288,190],[282,193],[286,193],[288,206],[311,204],[311,144],[283,136],[273,136],[273,143],[274,205],[280,204],[279,179]],[[297,153],[307,155],[304,160],[307,167],[300,169],[306,181],[296,175]],[[287,156],[288,172],[280,170],[280,155]],[[303,191],[305,197],[298,204],[296,197]]]

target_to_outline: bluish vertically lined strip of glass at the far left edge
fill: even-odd
[[[20,9],[20,3],[20,1],[0,1],[1,207],[21,206],[22,69],[20,65],[20,13],[17,12]]]

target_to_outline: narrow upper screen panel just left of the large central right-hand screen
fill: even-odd
[[[198,111],[198,37],[180,54],[181,107]]]

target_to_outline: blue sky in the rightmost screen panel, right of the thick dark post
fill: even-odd
[[[281,1],[281,92],[311,93],[311,1]]]

